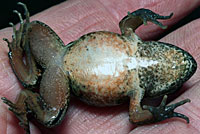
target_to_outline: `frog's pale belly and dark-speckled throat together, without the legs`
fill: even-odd
[[[159,97],[177,90],[190,75],[192,60],[184,57],[191,56],[166,43],[100,31],[71,43],[63,59],[72,92],[88,104],[110,106],[135,92]]]

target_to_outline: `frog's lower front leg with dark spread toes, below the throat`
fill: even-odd
[[[129,116],[130,121],[134,124],[148,124],[153,122],[159,122],[172,117],[179,117],[185,119],[189,123],[189,118],[181,113],[174,112],[174,109],[190,102],[189,99],[182,100],[175,104],[166,105],[167,95],[163,97],[163,100],[158,107],[153,106],[141,106],[141,100],[143,98],[144,91],[136,91],[130,97]]]

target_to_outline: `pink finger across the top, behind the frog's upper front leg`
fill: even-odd
[[[178,8],[177,8],[178,5]],[[67,44],[83,34],[106,30],[120,33],[118,23],[127,15],[128,11],[138,8],[148,8],[161,15],[174,16],[170,20],[164,20],[164,25],[173,25],[187,16],[192,10],[200,5],[200,1],[184,0],[157,0],[155,2],[145,0],[79,0],[67,1],[54,6],[36,16],[51,26]],[[117,7],[117,8],[116,8]],[[143,39],[152,39],[160,35],[164,30],[149,23],[138,30]]]

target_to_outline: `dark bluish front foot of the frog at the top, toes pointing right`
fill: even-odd
[[[170,19],[173,16],[173,13],[171,13],[169,16],[161,16],[159,14],[152,12],[149,9],[141,8],[132,13],[128,12],[128,16],[139,17],[140,19],[142,19],[144,25],[147,25],[147,21],[151,21],[152,23],[158,25],[162,29],[166,29],[167,26],[164,26],[161,22],[157,21],[157,19],[162,19],[162,20]]]

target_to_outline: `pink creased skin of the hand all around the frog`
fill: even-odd
[[[187,16],[200,5],[200,0],[68,0],[51,7],[33,17],[49,25],[64,41],[65,44],[76,40],[81,35],[92,31],[111,31],[120,33],[118,23],[127,15],[127,12],[139,8],[148,8],[160,15],[174,16],[165,25],[169,28]],[[9,8],[9,7],[8,7]],[[177,45],[193,55],[200,63],[200,19],[173,31],[161,39],[163,42]],[[148,23],[141,26],[137,34],[144,40],[152,40],[163,33],[158,26]],[[11,40],[12,28],[0,30],[0,39]],[[14,101],[22,90],[9,64],[6,42],[0,40],[0,97],[7,97]],[[129,122],[128,103],[116,107],[98,108],[88,106],[77,98],[72,97],[70,107],[62,124],[54,128],[44,128],[38,123],[30,123],[31,134],[197,134],[200,133],[200,71],[197,69],[194,76],[183,87],[182,94],[176,96],[172,102],[191,99],[191,103],[176,109],[177,112],[187,115],[190,124],[177,118],[168,119],[156,124],[136,127]],[[23,129],[8,107],[0,101],[0,133],[21,134]],[[32,122],[35,122],[32,120]]]

